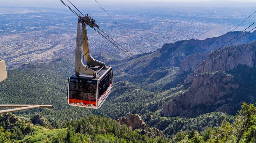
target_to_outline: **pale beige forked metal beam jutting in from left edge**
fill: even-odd
[[[52,105],[0,105],[0,107],[19,107],[19,108],[13,108],[13,109],[7,109],[7,110],[1,110],[0,114],[3,113],[9,113],[9,112],[16,112],[21,110],[28,110],[33,108],[52,108]]]

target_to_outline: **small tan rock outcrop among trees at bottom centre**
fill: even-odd
[[[117,122],[120,125],[126,125],[141,135],[148,135],[149,137],[163,136],[162,131],[159,129],[149,128],[138,114],[129,114],[127,117],[123,116]]]

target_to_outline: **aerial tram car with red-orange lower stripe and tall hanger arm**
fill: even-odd
[[[75,47],[75,74],[68,78],[68,104],[97,109],[101,107],[113,88],[113,71],[112,67],[95,60],[90,55],[86,24],[91,28],[99,28],[90,16],[79,16]]]

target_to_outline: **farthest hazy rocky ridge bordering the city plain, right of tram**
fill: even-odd
[[[141,74],[145,71],[151,71],[160,67],[170,68],[171,60],[174,58],[174,66],[179,67],[182,60],[188,55],[207,51],[211,52],[224,45],[240,32],[241,31],[228,32],[222,36],[207,38],[204,40],[181,40],[170,44],[164,44],[160,49],[157,49],[157,51],[137,55],[136,57],[147,65],[147,67],[144,67],[146,70],[141,68],[139,65],[136,65],[131,60],[126,62],[127,59],[124,60],[120,66],[122,67],[121,69],[123,69],[123,71],[126,71],[129,74]],[[241,36],[245,33],[246,32],[241,33]],[[250,34],[251,33],[249,32],[244,37],[247,37]],[[240,38],[240,36],[237,36],[235,39],[238,38]],[[243,38],[237,40],[237,42],[234,44],[241,42],[242,39]],[[241,44],[251,43],[255,39],[256,35],[252,35],[248,39],[241,42]],[[117,65],[117,68],[120,69],[120,66]]]

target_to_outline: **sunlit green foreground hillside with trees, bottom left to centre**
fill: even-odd
[[[163,136],[150,138],[147,135],[140,135],[124,125],[120,126],[115,120],[95,115],[77,121],[65,122],[60,129],[34,126],[28,120],[17,118],[12,114],[5,114],[0,119],[6,123],[13,122],[10,124],[11,126],[0,127],[0,142],[3,143],[154,143],[156,141],[168,141]]]

